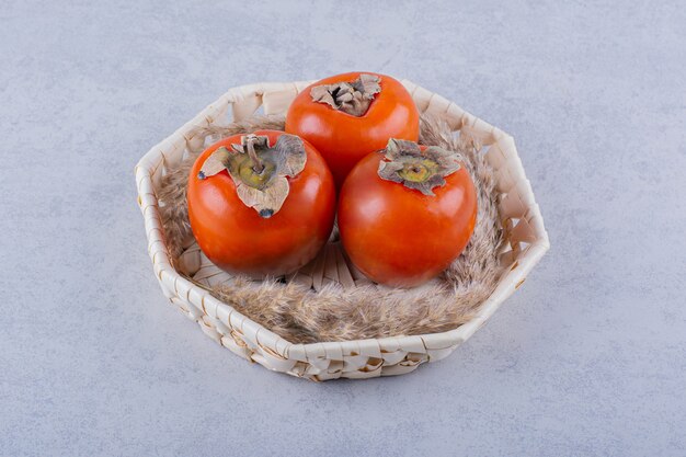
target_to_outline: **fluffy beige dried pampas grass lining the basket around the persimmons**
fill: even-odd
[[[284,121],[254,117],[206,127],[194,135],[214,142],[265,128],[283,129]],[[213,287],[211,294],[291,343],[436,333],[468,321],[491,295],[502,273],[499,252],[503,230],[493,173],[478,145],[455,137],[441,118],[422,117],[420,142],[460,152],[477,186],[475,232],[462,254],[441,277],[413,289],[367,285],[345,290],[336,284],[313,290],[296,283],[235,277]],[[169,170],[158,194],[168,248],[174,259],[193,242],[185,188],[199,152],[193,150],[179,167]]]

